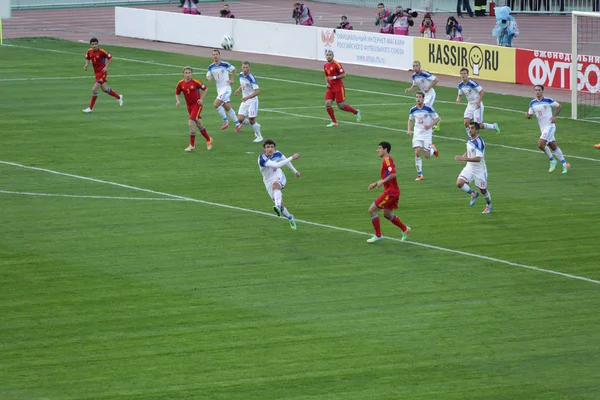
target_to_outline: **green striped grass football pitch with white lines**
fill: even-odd
[[[263,136],[301,155],[284,191],[292,231],[272,215],[251,129],[221,133],[208,106],[213,150],[199,136],[183,151],[175,85],[186,64],[203,79],[208,59],[110,47],[125,105],[101,93],[83,114],[86,44],[9,43],[0,399],[600,398],[598,125],[560,119],[572,168],[549,174],[530,99],[487,93],[502,133],[482,133],[482,215],[455,186],[455,89],[437,89],[440,157],[415,182],[406,82],[348,77],[363,120],[338,111],[332,130],[321,71],[253,65]],[[413,230],[400,242],[382,219],[387,239],[367,245],[381,140]]]

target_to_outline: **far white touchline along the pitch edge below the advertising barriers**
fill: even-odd
[[[81,56],[80,53],[74,53],[74,52],[63,51],[63,50],[42,49],[42,48],[38,48],[38,47],[21,46],[21,45],[13,45],[13,44],[4,44],[4,46],[16,47],[16,48],[21,48],[21,49],[31,49],[31,50],[44,50],[46,52],[54,52],[54,53],[59,53],[59,54],[70,54],[70,55]],[[149,51],[152,51],[152,50],[149,50]],[[183,68],[184,67],[183,65],[165,64],[165,63],[158,63],[158,62],[146,61],[146,60],[136,60],[136,59],[133,59],[133,58],[120,58],[120,57],[113,57],[113,58],[116,59],[116,60],[128,61],[128,62],[133,62],[133,63],[158,65],[160,67],[174,67],[174,68]],[[195,69],[199,70],[199,71],[206,71],[205,68],[200,68],[200,67],[197,67]],[[276,82],[285,82],[285,83],[293,83],[293,84],[296,84],[296,85],[316,86],[316,87],[323,88],[323,84],[322,83],[292,81],[292,80],[289,80],[289,79],[272,78],[272,77],[262,76],[262,75],[256,75],[256,76],[258,78],[264,79],[264,80],[270,80],[270,81],[276,81]],[[457,78],[457,82],[458,82],[458,78]],[[409,82],[407,82],[407,84],[408,83]],[[353,92],[359,92],[359,93],[368,93],[368,94],[376,94],[378,96],[400,97],[400,98],[411,99],[411,100],[414,99],[413,96],[407,96],[407,95],[404,95],[404,94],[384,93],[384,92],[377,92],[377,91],[373,91],[373,90],[346,88],[346,91],[353,91]],[[502,93],[494,93],[494,94],[501,95]],[[522,97],[522,96],[515,96],[515,97]],[[438,103],[455,104],[454,101],[438,100],[438,99],[436,99],[436,101]],[[525,115],[525,111],[523,111],[523,110],[525,110],[525,107],[523,108],[523,110],[513,110],[513,109],[510,109],[510,108],[502,108],[502,107],[494,107],[494,106],[488,106],[488,105],[486,105],[485,108],[486,109],[506,111],[506,112],[513,112],[513,113],[518,113],[518,114]],[[571,119],[569,117],[560,117],[560,116],[557,117],[557,118],[559,118],[559,119],[568,119],[568,120]],[[580,121],[580,122],[589,122],[589,123],[592,123],[592,124],[600,124],[600,121],[583,120],[583,119],[577,120],[577,121]]]

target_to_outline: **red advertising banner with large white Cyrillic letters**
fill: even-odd
[[[577,58],[577,90],[599,92],[600,56],[579,55]],[[517,49],[515,69],[517,83],[571,90],[569,53]]]

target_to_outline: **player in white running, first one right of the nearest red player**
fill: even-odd
[[[487,190],[487,167],[485,166],[485,143],[479,136],[479,124],[471,122],[469,125],[469,140],[467,141],[467,152],[462,156],[456,156],[454,159],[460,162],[467,162],[467,165],[460,171],[456,179],[456,186],[471,195],[469,205],[475,205],[475,201],[479,197],[479,192],[485,199],[485,209],[482,214],[492,212],[492,195]],[[479,192],[471,189],[469,183],[475,181],[475,186],[479,188]]]

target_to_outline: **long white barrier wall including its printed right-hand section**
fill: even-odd
[[[325,50],[332,49],[336,60],[343,63],[405,71],[412,67],[413,38],[409,36],[334,32],[312,26],[123,7],[115,8],[115,33],[203,47],[220,47],[227,34],[237,51],[325,60]]]

